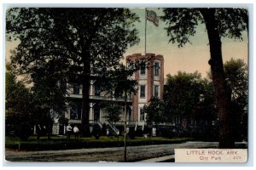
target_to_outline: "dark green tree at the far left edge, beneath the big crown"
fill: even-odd
[[[5,77],[6,134],[13,131],[15,136],[26,140],[32,135],[32,94],[23,82],[17,81],[9,64],[6,65]]]

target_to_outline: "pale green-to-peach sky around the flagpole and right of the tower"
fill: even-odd
[[[147,8],[154,10],[160,16],[163,15],[159,8]],[[140,43],[136,46],[128,48],[125,56],[131,54],[144,54],[145,48],[145,8],[132,8],[132,12],[138,14],[140,22],[136,23],[139,31]],[[147,53],[162,54],[165,59],[165,75],[176,75],[177,71],[186,71],[192,73],[199,71],[202,77],[207,76],[210,71],[208,60],[210,59],[210,51],[208,45],[208,37],[206,27],[200,25],[197,27],[195,37],[190,38],[183,48],[177,48],[177,43],[169,43],[170,37],[167,36],[164,29],[166,24],[160,20],[158,27],[150,21],[147,21]],[[247,63],[247,32],[242,34],[243,41],[224,38],[222,39],[222,52],[224,62],[234,59],[243,59]]]

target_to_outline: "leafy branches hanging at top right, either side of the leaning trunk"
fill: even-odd
[[[198,25],[205,24],[203,13],[208,11],[208,8],[164,8],[165,15],[161,19],[168,25],[166,31],[169,42],[177,42],[178,47],[191,43],[189,38],[195,36]],[[214,11],[219,37],[241,39],[242,31],[247,30],[247,9],[214,8]]]

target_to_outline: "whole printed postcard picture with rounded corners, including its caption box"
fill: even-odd
[[[247,8],[5,16],[6,163],[247,162]]]

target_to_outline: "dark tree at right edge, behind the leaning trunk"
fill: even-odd
[[[248,75],[247,65],[241,59],[225,62],[226,81],[231,88],[234,136],[236,140],[247,139]]]

